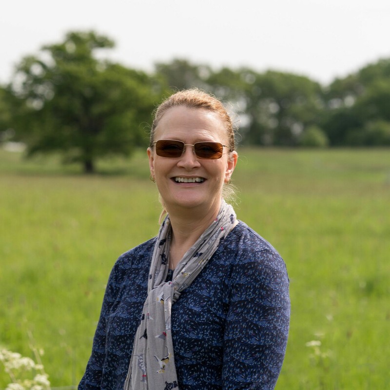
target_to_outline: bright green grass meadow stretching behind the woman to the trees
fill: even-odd
[[[291,281],[276,389],[390,389],[390,150],[239,154],[237,216]],[[83,374],[117,256],[158,230],[145,154],[98,168],[0,150],[0,345],[30,356],[31,331],[53,387]]]

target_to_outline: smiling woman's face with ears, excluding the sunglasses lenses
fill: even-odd
[[[228,145],[228,135],[218,114],[198,108],[170,108],[160,119],[155,141],[175,139],[185,144],[212,141]],[[180,157],[156,155],[156,147],[148,148],[152,176],[168,213],[198,209],[217,213],[224,182],[230,179],[237,162],[237,153],[223,148],[221,158],[201,159],[192,146],[186,146]],[[193,181],[188,182],[188,179]],[[196,181],[195,181],[196,179]],[[185,180],[185,181],[184,181]]]

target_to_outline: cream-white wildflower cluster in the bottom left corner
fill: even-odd
[[[38,352],[34,352],[38,363],[20,353],[0,348],[0,361],[12,380],[5,390],[50,390],[48,375],[43,369]]]

